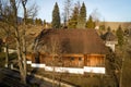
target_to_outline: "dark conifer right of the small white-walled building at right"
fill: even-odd
[[[119,45],[120,47],[122,47],[122,45],[123,45],[123,30],[122,30],[122,28],[121,28],[120,25],[119,25],[119,27],[118,27],[118,29],[117,29],[117,32],[116,32],[116,35],[117,35],[117,37],[118,37],[118,45]]]

